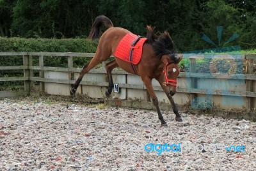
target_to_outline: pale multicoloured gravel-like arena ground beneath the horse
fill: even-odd
[[[0,170],[255,170],[256,123],[163,115],[161,128],[156,111],[0,100]],[[176,146],[159,154],[150,143]]]

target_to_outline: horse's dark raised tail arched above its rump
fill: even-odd
[[[104,24],[104,26],[107,28],[113,27],[113,24],[108,17],[100,15],[96,17],[95,21],[92,24],[92,30],[88,36],[89,39],[94,40],[100,37],[100,35],[102,34],[102,31],[100,30],[102,24]]]

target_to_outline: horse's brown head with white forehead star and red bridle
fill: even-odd
[[[179,62],[182,60],[181,57],[176,57],[174,54],[167,54],[161,57],[161,61],[164,63],[163,85],[169,87],[170,96],[176,93],[177,77],[180,73]]]

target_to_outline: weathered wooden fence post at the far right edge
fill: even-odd
[[[253,73],[253,58],[250,57],[250,55],[245,55],[246,59],[246,74],[252,74]],[[246,80],[246,92],[253,92],[253,80]],[[254,108],[254,98],[253,97],[247,97],[248,99],[248,107],[253,110]]]

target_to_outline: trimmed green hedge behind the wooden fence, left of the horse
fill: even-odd
[[[0,37],[0,52],[88,52],[96,51],[97,42],[86,39],[44,39]],[[34,57],[35,58],[35,57]],[[74,67],[83,67],[89,59],[74,58]],[[38,59],[33,59],[38,64]],[[67,66],[67,57],[45,57],[45,66]],[[0,66],[22,65],[22,57],[1,57]]]

